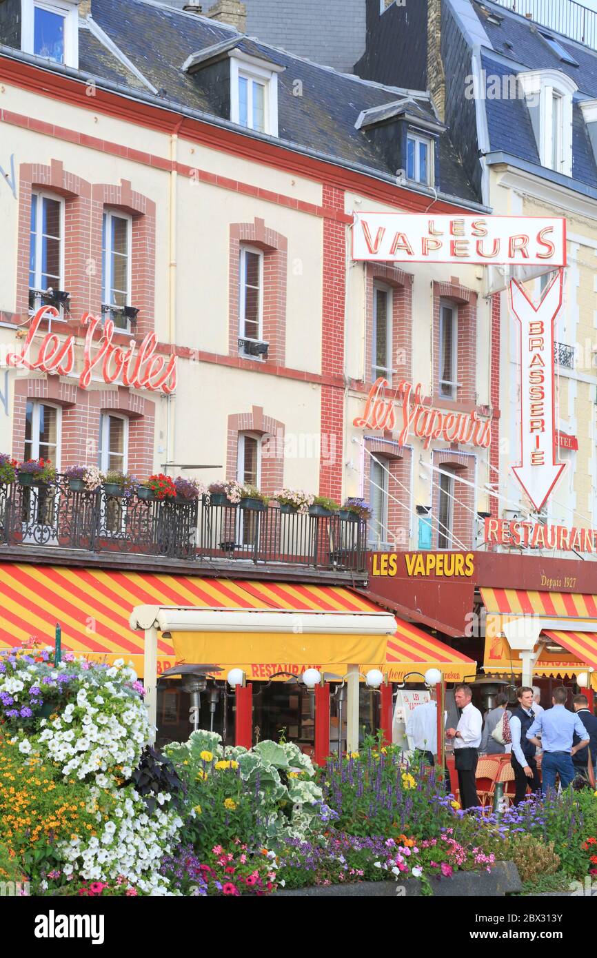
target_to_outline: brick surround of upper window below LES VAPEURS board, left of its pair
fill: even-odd
[[[413,277],[394,263],[370,262],[366,264],[366,343],[365,381],[373,382],[382,371],[375,354],[376,312],[379,310],[377,290],[387,293],[387,364],[389,375],[384,376],[390,385],[402,379],[410,379],[412,370],[412,283]]]

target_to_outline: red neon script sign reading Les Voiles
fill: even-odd
[[[54,307],[42,307],[37,310],[27,332],[27,338],[20,353],[7,356],[9,366],[24,367],[40,373],[55,373],[68,376],[75,367],[75,336],[60,339],[56,332],[48,332],[37,347],[37,356],[30,358],[34,336],[42,319],[57,317]],[[157,338],[148,332],[139,345],[131,339],[127,349],[115,346],[114,323],[106,319],[101,321],[89,312],[83,313],[81,324],[87,327],[83,345],[83,367],[79,376],[81,389],[87,389],[94,370],[101,371],[103,381],[113,383],[120,379],[124,386],[134,389],[149,389],[152,392],[173,393],[176,388],[176,356],[155,354]],[[94,338],[100,329],[102,335]]]

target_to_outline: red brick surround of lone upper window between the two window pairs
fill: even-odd
[[[267,343],[264,361],[274,366],[286,365],[287,307],[287,238],[265,226],[264,219],[252,223],[230,224],[228,352],[247,357],[246,347],[239,346],[241,336],[241,250],[260,254],[260,318],[261,336]],[[244,260],[242,260],[244,262]],[[251,339],[251,336],[246,336]],[[249,358],[253,356],[248,355]]]

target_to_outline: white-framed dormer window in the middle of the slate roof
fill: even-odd
[[[278,135],[278,73],[274,63],[240,50],[230,57],[230,119],[258,133]]]

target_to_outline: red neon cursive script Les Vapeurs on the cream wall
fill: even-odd
[[[387,379],[376,379],[365,403],[362,416],[356,417],[353,425],[360,429],[394,429],[396,427],[396,402],[383,398],[383,390],[389,388]],[[410,382],[401,382],[397,395],[402,394],[402,431],[399,445],[404,445],[412,431],[425,439],[425,449],[432,439],[445,439],[448,443],[471,443],[487,449],[492,444],[492,421],[482,420],[473,409],[470,413],[448,413],[435,409],[424,402],[421,383],[413,387]]]

